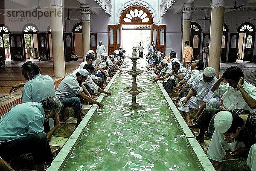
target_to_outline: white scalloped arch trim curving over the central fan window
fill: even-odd
[[[119,17],[119,20],[120,20],[120,17],[122,15],[122,13],[131,6],[142,6],[142,7],[144,7],[145,9],[147,9],[149,11],[153,20],[154,20],[154,18],[156,18],[156,16],[155,16],[156,12],[155,12],[154,8],[152,8],[152,6],[150,6],[146,1],[144,1],[144,0],[140,0],[140,1],[133,0],[133,1],[130,1],[128,3],[122,4],[122,6],[119,8],[118,13],[116,14]]]

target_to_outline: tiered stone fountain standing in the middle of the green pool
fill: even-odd
[[[140,57],[137,56],[137,47],[134,46],[132,48],[133,52],[132,52],[132,57],[130,57],[130,59],[132,60],[132,70],[128,71],[127,73],[130,74],[132,76],[132,84],[131,87],[126,87],[123,89],[124,92],[130,93],[132,96],[132,105],[136,105],[136,96],[139,93],[142,93],[145,91],[144,88],[141,87],[137,87],[137,83],[136,83],[136,77],[137,75],[141,74],[142,71],[137,70],[137,64],[136,61],[137,59],[140,59]]]

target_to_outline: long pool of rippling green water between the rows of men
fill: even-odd
[[[128,59],[102,100],[62,171],[199,171],[187,138],[174,119],[145,59],[138,60],[137,86],[145,88],[131,107]]]

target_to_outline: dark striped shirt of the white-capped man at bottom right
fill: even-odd
[[[243,109],[234,109],[230,110],[230,112],[236,113],[238,116],[244,113],[248,114],[244,129],[240,131],[236,141],[243,141],[247,148],[256,144],[256,115],[250,113],[249,110]]]

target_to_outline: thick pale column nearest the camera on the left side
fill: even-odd
[[[62,0],[49,0],[51,37],[52,37],[52,58],[53,72],[55,77],[66,76],[63,24],[62,24]]]

